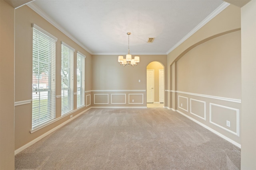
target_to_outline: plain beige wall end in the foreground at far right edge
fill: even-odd
[[[242,129],[241,169],[256,169],[256,1],[241,8]]]

